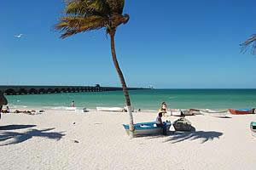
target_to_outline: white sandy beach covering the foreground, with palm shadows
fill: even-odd
[[[149,122],[155,116],[141,112],[134,119]],[[187,116],[195,133],[130,139],[122,127],[129,121],[125,113],[3,114],[0,169],[254,170],[256,138],[249,123],[256,115],[230,117]]]

